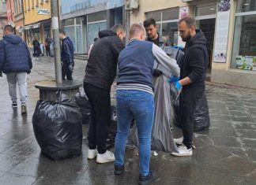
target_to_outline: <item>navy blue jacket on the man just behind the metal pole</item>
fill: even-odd
[[[73,64],[73,43],[70,37],[62,40],[62,62]]]

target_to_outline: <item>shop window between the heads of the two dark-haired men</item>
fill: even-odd
[[[156,20],[158,32],[167,39],[168,46],[178,45],[178,8],[149,12],[146,17]]]

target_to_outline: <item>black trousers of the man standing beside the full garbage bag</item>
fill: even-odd
[[[99,154],[107,150],[107,125],[111,123],[110,91],[84,83],[85,93],[91,104],[92,123],[88,131],[88,146],[90,150],[97,148]]]

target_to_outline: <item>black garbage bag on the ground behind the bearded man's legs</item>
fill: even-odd
[[[181,120],[180,120],[180,110],[179,110],[179,100],[175,102],[173,106],[174,111],[174,124],[181,128]],[[201,99],[198,102],[197,108],[194,112],[194,131],[205,131],[208,130],[210,126],[210,118],[209,118],[209,107],[206,98],[206,94],[203,94]]]

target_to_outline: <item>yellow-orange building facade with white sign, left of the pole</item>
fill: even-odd
[[[51,2],[49,0],[26,0],[23,2],[24,35],[28,46],[33,39],[44,43],[51,38]]]

